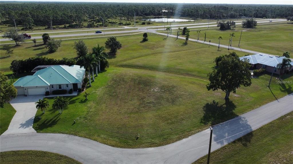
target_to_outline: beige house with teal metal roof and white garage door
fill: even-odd
[[[45,95],[46,91],[52,94],[53,90],[78,91],[84,75],[85,69],[79,65],[52,65],[36,71],[33,75],[19,78],[13,86],[18,95]]]

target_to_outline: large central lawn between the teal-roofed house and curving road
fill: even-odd
[[[84,41],[91,48],[104,45],[105,40]],[[152,33],[149,41],[143,43],[140,42],[142,34],[118,36],[117,40],[122,48],[116,56],[109,57],[110,68],[100,73],[86,90],[91,94],[89,100],[84,100],[84,93],[69,97],[70,104],[59,115],[52,109],[53,99],[50,99],[49,109],[33,124],[37,132],[72,134],[116,147],[160,146],[292,93],[292,84],[279,85],[275,78],[271,90],[266,88],[270,75],[263,74],[254,78],[250,87],[241,87],[236,94],[231,94],[232,102],[226,106],[224,93],[207,91],[205,85],[214,58],[227,54],[228,50],[217,51],[216,46],[191,41],[183,46],[183,40],[164,39]],[[1,59],[1,70],[9,74],[13,59],[76,57],[73,43],[74,40],[63,41],[55,53],[47,53],[43,45],[34,47],[32,43],[15,47],[11,57]],[[286,80],[293,80],[292,75],[287,74]],[[204,110],[213,101],[219,105]],[[230,112],[217,111],[223,107]],[[207,113],[216,111],[217,116]],[[36,118],[39,115],[41,111],[37,111]]]

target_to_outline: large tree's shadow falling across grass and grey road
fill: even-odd
[[[248,133],[246,137],[239,139],[239,142],[243,146],[247,146],[251,141],[253,137],[253,134],[250,133],[252,132],[251,126],[245,117],[235,114],[234,109],[236,109],[236,106],[232,101],[219,104],[213,100],[211,103],[203,106],[204,116],[201,122],[215,125],[213,126],[213,140],[216,144],[224,145],[230,143]]]

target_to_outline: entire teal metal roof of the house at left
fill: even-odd
[[[84,68],[54,65],[37,71],[32,76],[19,78],[14,86],[48,86],[50,84],[81,83],[85,73]],[[45,85],[44,85],[45,84]]]

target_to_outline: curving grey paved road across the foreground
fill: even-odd
[[[293,111],[293,94],[214,126],[212,151]],[[208,152],[210,130],[165,146],[120,149],[73,135],[29,133],[0,136],[0,151],[42,150],[60,153],[82,163],[192,163]]]

